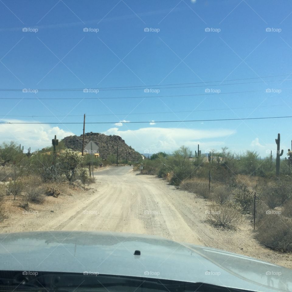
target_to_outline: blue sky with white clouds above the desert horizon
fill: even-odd
[[[200,143],[203,152],[227,146],[265,156],[277,133],[284,153],[291,146],[291,118],[155,123],[290,116],[290,1],[1,0],[0,7],[0,88],[39,90],[0,91],[2,122],[41,123],[1,124],[0,142],[48,146],[55,134],[82,134],[82,124],[65,122],[82,123],[85,113],[86,122],[112,122],[87,124],[86,132],[120,135],[141,153]],[[163,86],[181,83],[193,84]],[[140,87],[102,90],[124,86]],[[40,91],[91,88],[100,90]],[[99,97],[108,99],[87,99]]]

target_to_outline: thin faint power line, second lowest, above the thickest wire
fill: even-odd
[[[208,111],[217,111],[217,110],[230,110],[230,109],[257,109],[262,107],[275,107],[275,106],[283,106],[283,105],[271,105],[271,106],[248,106],[248,107],[231,107],[224,109],[197,109],[197,110],[180,110],[180,111],[172,111],[172,112],[153,112],[153,113],[111,113],[111,114],[103,114],[103,115],[86,115],[86,116],[124,116],[124,115],[152,115],[152,114],[162,114],[162,113],[191,113],[191,112],[208,112]],[[83,116],[83,115],[51,115],[51,116],[18,116],[18,115],[0,115],[4,117],[29,117],[29,118],[38,118],[38,117],[71,117],[71,116]]]

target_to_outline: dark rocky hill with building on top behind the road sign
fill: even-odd
[[[141,158],[141,154],[131,146],[128,146],[125,141],[116,135],[105,135],[100,133],[87,133],[84,137],[84,145],[89,141],[95,142],[99,147],[100,157],[106,159],[108,155],[116,155],[117,145],[119,144],[118,160],[126,159],[126,151],[128,150],[128,161],[138,161]],[[71,148],[75,151],[82,151],[82,135],[81,136],[68,136],[65,137],[62,142],[67,148]]]

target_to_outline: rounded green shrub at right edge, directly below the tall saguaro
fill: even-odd
[[[262,186],[259,193],[262,200],[272,209],[281,206],[289,198],[292,198],[291,184],[282,180],[268,182]]]

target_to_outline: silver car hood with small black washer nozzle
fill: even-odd
[[[141,255],[134,255],[138,250]],[[36,231],[0,235],[0,269],[137,276],[291,291],[292,270],[243,255],[156,236]]]

